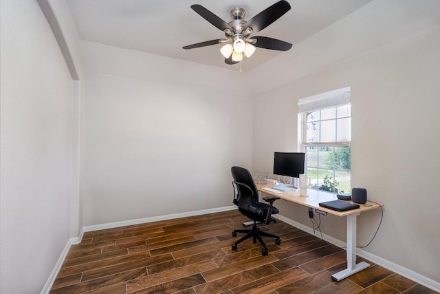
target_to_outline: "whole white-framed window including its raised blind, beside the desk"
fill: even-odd
[[[311,189],[351,191],[351,88],[298,101],[300,147]]]

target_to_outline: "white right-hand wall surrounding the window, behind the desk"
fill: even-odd
[[[273,151],[296,150],[299,98],[351,86],[352,186],[385,205],[365,250],[440,282],[440,26],[315,72],[255,98],[254,171],[272,169]],[[268,98],[270,97],[270,98]],[[276,141],[268,141],[272,134]],[[281,138],[278,140],[278,138]],[[307,209],[278,202],[281,214],[311,225]],[[345,220],[322,218],[345,240]],[[358,244],[373,237],[380,211],[363,213]]]

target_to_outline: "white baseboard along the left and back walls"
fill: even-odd
[[[148,222],[158,222],[160,220],[173,220],[175,218],[186,218],[188,216],[201,216],[203,214],[208,213],[216,213],[216,212],[222,212],[222,211],[230,211],[238,209],[235,205],[229,206],[229,207],[219,207],[214,209],[204,209],[204,210],[198,210],[198,211],[190,211],[190,212],[184,212],[184,213],[174,213],[174,214],[168,214],[165,216],[153,216],[151,218],[138,218],[136,220],[125,220],[122,222],[109,222],[107,224],[96,224],[93,226],[87,226],[83,227],[80,231],[80,235],[76,238],[70,238],[69,241],[67,241],[66,246],[63,249],[63,252],[61,253],[60,258],[58,258],[58,262],[56,262],[54,270],[50,274],[49,279],[47,279],[47,282],[41,291],[41,294],[48,294],[50,292],[50,289],[54,285],[56,276],[58,275],[61,266],[63,265],[63,262],[67,256],[67,253],[69,253],[70,246],[73,244],[79,244],[81,240],[83,240],[83,235],[85,232],[91,232],[91,231],[98,231],[103,229],[113,229],[113,228],[119,228],[119,227],[125,227],[125,226],[131,226],[133,224],[146,224]]]

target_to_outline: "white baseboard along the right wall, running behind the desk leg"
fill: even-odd
[[[314,233],[314,230],[311,229],[311,227],[307,227],[304,224],[300,224],[299,222],[295,222],[294,220],[291,220],[289,218],[286,218],[284,216],[281,216],[277,214],[274,216],[278,218],[278,220],[281,220],[283,222],[286,222],[287,224],[292,225],[293,227],[296,227],[302,231],[305,231],[307,233],[310,233],[311,235],[317,235],[317,233]],[[320,238],[321,235],[319,234],[318,237]],[[336,238],[333,238],[329,235],[326,235],[325,233],[322,233],[322,238],[326,240],[327,242],[339,246],[339,247],[346,247],[347,243],[342,242],[341,240],[338,240]],[[429,279],[428,277],[425,277],[423,275],[420,275],[419,273],[415,273],[415,271],[411,271],[410,269],[406,269],[404,266],[399,266],[399,264],[395,264],[393,262],[390,262],[388,260],[384,260],[384,258],[380,258],[377,255],[374,255],[372,253],[369,253],[367,251],[364,251],[362,249],[356,249],[356,254],[359,255],[361,258],[365,258],[366,260],[370,260],[371,262],[374,262],[375,264],[378,264],[385,269],[388,269],[390,271],[393,271],[395,273],[398,273],[399,275],[406,277],[418,284],[421,284],[423,286],[426,286],[430,288],[431,290],[437,291],[440,293],[440,283],[436,282],[434,280]]]

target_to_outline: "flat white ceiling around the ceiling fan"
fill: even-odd
[[[272,23],[259,36],[270,36],[295,45],[358,10],[371,0],[288,0],[292,9]],[[223,32],[193,11],[200,4],[226,22],[230,10],[241,7],[249,20],[276,0],[68,0],[80,39],[233,69],[220,53],[221,44],[184,50],[182,46],[222,39]],[[243,59],[246,70],[289,52],[257,48],[250,59]]]

